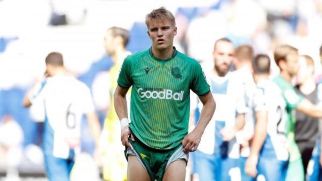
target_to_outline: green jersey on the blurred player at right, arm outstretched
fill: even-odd
[[[288,121],[286,124],[286,137],[290,143],[290,161],[295,161],[301,158],[299,149],[295,143],[295,109],[303,100],[303,97],[295,92],[294,87],[287,82],[282,76],[278,75],[273,81],[280,87],[283,98],[286,102],[286,111]]]

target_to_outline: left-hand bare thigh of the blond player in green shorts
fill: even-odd
[[[146,169],[137,160],[137,157],[133,155],[129,155],[127,160],[127,180],[151,181],[151,178]]]

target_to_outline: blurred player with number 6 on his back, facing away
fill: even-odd
[[[46,57],[46,76],[26,95],[24,106],[42,104],[45,110],[43,151],[49,180],[69,180],[75,154],[80,150],[81,120],[86,115],[96,146],[101,127],[90,89],[69,76],[60,53]]]

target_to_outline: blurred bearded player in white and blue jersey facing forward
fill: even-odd
[[[235,135],[244,127],[248,108],[245,87],[234,76],[237,74],[229,72],[234,58],[234,47],[230,40],[221,38],[215,42],[214,68],[207,77],[218,110],[194,154],[195,179],[240,179],[239,144]]]

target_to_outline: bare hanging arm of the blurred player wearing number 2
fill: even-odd
[[[251,145],[251,154],[246,161],[245,171],[250,176],[255,177],[257,175],[257,163],[260,150],[265,142],[267,136],[267,123],[268,123],[267,111],[256,112],[256,125],[254,140]]]

